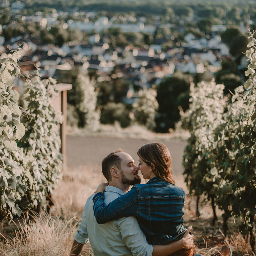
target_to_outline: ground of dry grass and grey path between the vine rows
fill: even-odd
[[[128,152],[136,163],[136,151],[141,145],[151,141],[163,141],[172,153],[176,185],[186,191],[181,167],[186,142],[177,138],[151,139],[68,136],[67,167],[63,171],[59,187],[54,192],[55,206],[52,207],[50,215],[41,213],[34,218],[24,215],[19,222],[1,223],[3,238],[0,255],[68,255],[86,199],[104,180],[100,169],[101,160],[117,148]],[[185,227],[192,225],[194,228],[196,253],[211,255],[226,242],[231,246],[233,255],[253,255],[250,247],[237,233],[238,223],[229,223],[228,237],[225,238],[221,232],[221,211],[217,211],[218,223],[215,227],[210,224],[212,210],[209,202],[202,199],[200,211],[200,217],[196,218],[195,198],[187,195]],[[90,244],[84,246],[82,255],[93,255]]]

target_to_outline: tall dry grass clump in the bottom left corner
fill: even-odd
[[[71,243],[77,220],[62,219],[42,213],[32,220],[24,218],[18,223],[18,230],[13,237],[1,243],[0,254],[3,256],[66,256]]]

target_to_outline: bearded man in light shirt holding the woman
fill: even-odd
[[[141,182],[138,167],[134,165],[132,157],[122,150],[112,152],[103,159],[102,173],[109,183],[104,192],[105,204],[125,194],[131,185]],[[88,198],[84,206],[82,222],[75,234],[70,256],[78,256],[88,238],[95,256],[166,256],[179,249],[193,247],[194,236],[189,234],[191,226],[182,239],[152,246],[147,243],[135,217],[98,224],[93,213],[93,196]]]

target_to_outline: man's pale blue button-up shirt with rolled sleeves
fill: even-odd
[[[104,202],[107,205],[124,194],[119,188],[106,186]],[[153,246],[147,243],[135,217],[97,223],[93,213],[93,196],[86,201],[75,240],[84,244],[89,238],[95,256],[152,256]]]

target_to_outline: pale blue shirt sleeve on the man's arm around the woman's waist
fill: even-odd
[[[148,244],[135,217],[118,219],[116,224],[119,227],[125,245],[133,256],[152,256],[154,248],[151,244]]]

